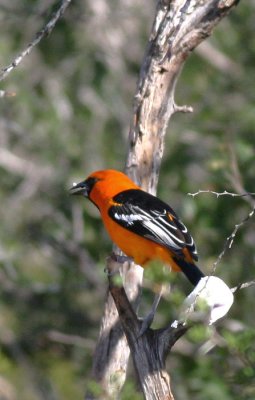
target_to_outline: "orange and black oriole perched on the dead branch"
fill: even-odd
[[[112,241],[136,264],[160,260],[182,271],[195,286],[204,274],[195,264],[197,251],[174,210],[115,170],[93,172],[74,184],[72,194],[89,198],[101,213]]]

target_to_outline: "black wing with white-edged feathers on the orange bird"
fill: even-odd
[[[126,190],[113,198],[109,216],[119,225],[183,256],[187,248],[194,260],[197,251],[186,226],[166,203],[143,190]]]

